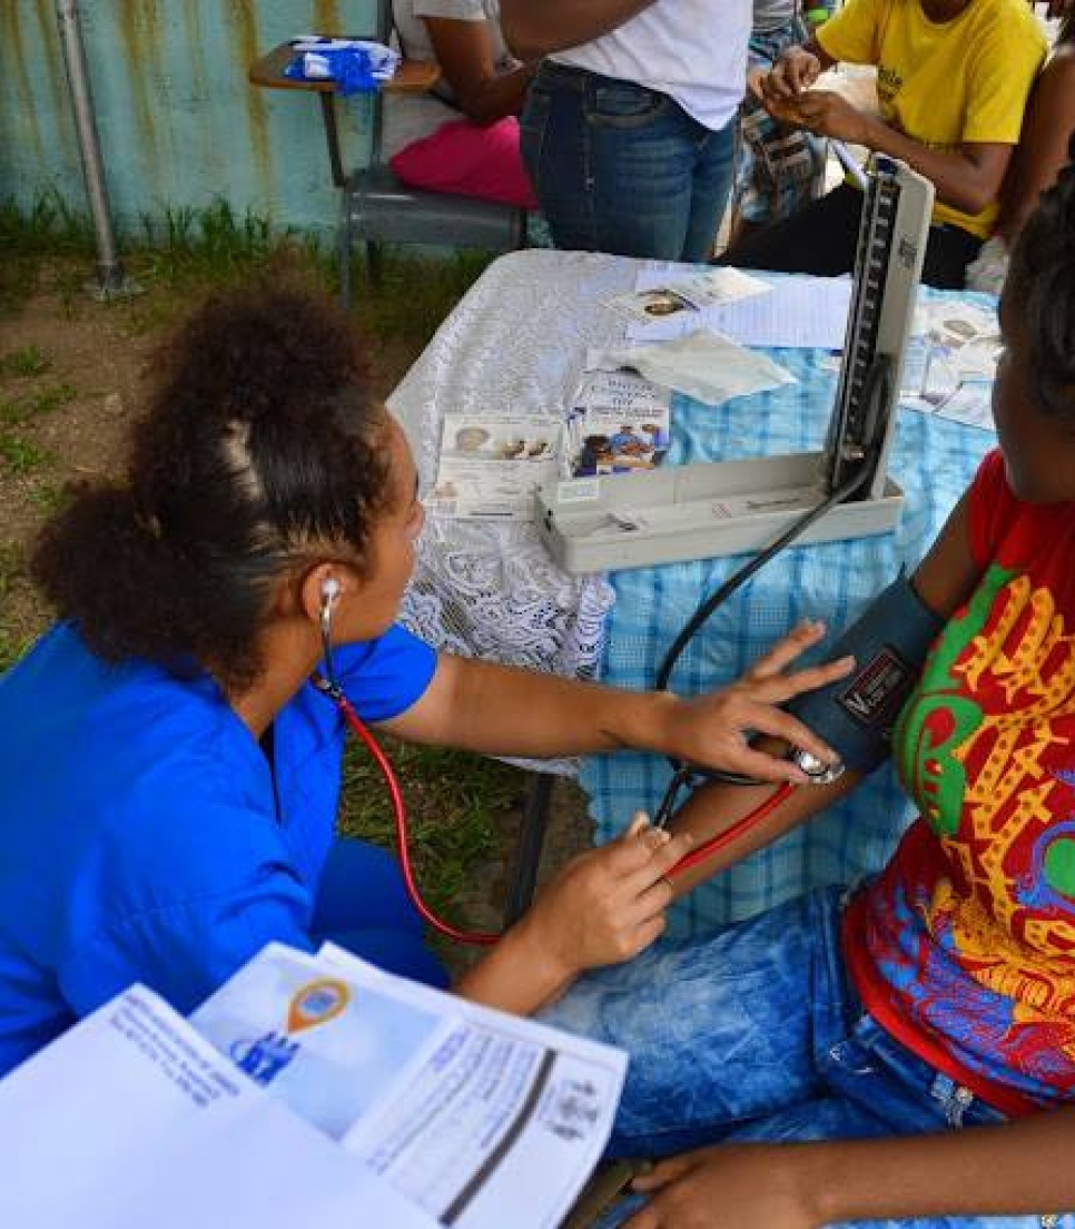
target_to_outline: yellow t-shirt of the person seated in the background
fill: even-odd
[[[876,64],[881,118],[941,150],[1017,145],[1047,47],[1025,0],[971,0],[946,22],[930,21],[920,0],[848,0],[815,37],[834,60]],[[936,204],[934,221],[987,238],[996,213],[995,200],[980,214]]]

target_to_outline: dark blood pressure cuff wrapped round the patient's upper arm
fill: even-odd
[[[785,708],[848,768],[872,772],[888,757],[892,728],[944,626],[901,573],[833,645],[831,660],[853,656],[854,673],[796,696]]]

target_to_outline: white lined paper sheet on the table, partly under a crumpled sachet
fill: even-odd
[[[628,338],[665,340],[693,333],[704,324],[740,345],[843,349],[851,302],[850,278],[751,272],[752,277],[772,285],[773,293],[751,295],[700,312],[681,312],[652,324],[629,324]],[[635,289],[649,290],[668,281],[667,272],[643,269]]]

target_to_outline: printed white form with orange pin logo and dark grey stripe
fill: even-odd
[[[597,1163],[625,1056],[335,951],[270,944],[193,1021],[444,1225],[553,1229]]]

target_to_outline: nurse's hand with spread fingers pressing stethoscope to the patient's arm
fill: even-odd
[[[758,780],[806,782],[788,760],[753,750],[747,737],[769,734],[790,746],[808,751],[824,763],[839,756],[779,704],[802,692],[843,678],[854,659],[842,658],[822,666],[788,671],[788,667],[824,635],[823,623],[801,623],[740,678],[706,696],[677,698],[663,714],[660,750],[677,760],[703,767],[742,773]]]

